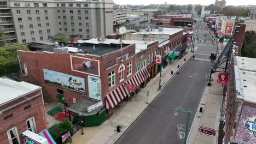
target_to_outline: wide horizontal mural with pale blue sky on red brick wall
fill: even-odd
[[[85,94],[85,83],[81,77],[44,69],[44,81],[51,85]]]

